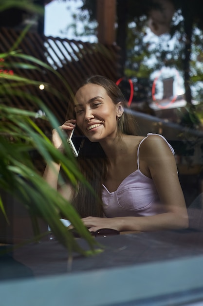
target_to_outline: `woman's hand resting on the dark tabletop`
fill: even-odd
[[[121,230],[122,218],[98,218],[98,217],[86,217],[82,221],[90,232],[95,232],[101,228],[111,228],[117,231]]]

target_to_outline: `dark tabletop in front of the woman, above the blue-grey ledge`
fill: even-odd
[[[102,253],[83,257],[74,254],[71,267],[67,250],[57,241],[32,243],[0,255],[0,279],[75,273],[131,264],[160,262],[203,254],[203,231],[187,229],[97,237]],[[87,249],[84,240],[78,243]],[[1,247],[1,251],[2,251]]]

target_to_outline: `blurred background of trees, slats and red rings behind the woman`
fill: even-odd
[[[49,69],[8,69],[0,73],[40,81],[27,86],[53,111],[58,122],[71,117],[69,99],[85,77],[101,74],[123,91],[137,122],[138,134],[161,133],[176,152],[187,206],[203,192],[203,2],[201,0],[33,0],[41,13],[14,5],[0,12],[0,53],[15,45],[49,64]],[[14,59],[12,59],[13,61]],[[15,59],[18,64],[19,59]],[[20,60],[21,61],[21,60]],[[26,59],[24,59],[26,64]],[[60,92],[56,97],[53,88]],[[6,104],[36,112],[49,136],[46,115],[24,97],[7,96]],[[68,112],[67,112],[68,109]],[[43,163],[37,160],[39,171]]]

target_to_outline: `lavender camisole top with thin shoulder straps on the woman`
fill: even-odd
[[[148,133],[147,137],[149,135],[154,134]],[[159,136],[166,141],[164,136]],[[102,200],[105,217],[153,216],[164,212],[153,180],[144,175],[139,168],[140,146],[147,137],[142,139],[138,146],[138,169],[127,176],[114,192],[109,192],[108,189],[102,185]],[[174,154],[171,145],[167,141],[166,143]]]

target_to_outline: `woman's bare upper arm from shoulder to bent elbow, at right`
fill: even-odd
[[[166,141],[158,135],[150,135],[140,148],[151,178],[156,186],[165,214],[154,216],[159,225],[166,228],[188,227],[185,198],[180,185],[175,158]],[[141,161],[142,162],[142,161]],[[151,219],[151,218],[150,218]],[[151,227],[156,224],[151,220]]]

